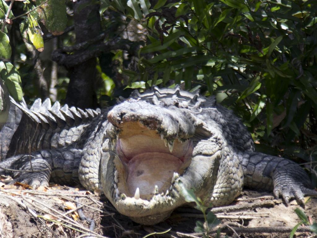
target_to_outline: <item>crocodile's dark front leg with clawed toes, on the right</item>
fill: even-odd
[[[304,204],[304,195],[317,196],[307,173],[288,159],[256,152],[240,152],[238,157],[247,187],[273,190],[287,204],[291,198]]]

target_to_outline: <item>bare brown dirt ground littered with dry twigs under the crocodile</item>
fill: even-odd
[[[1,186],[2,185],[2,186]],[[78,200],[77,206],[75,200]],[[286,207],[268,193],[245,190],[227,207],[213,208],[221,220],[220,237],[289,237],[300,222],[296,202]],[[304,210],[303,208],[301,208]],[[81,212],[87,218],[80,219]],[[307,202],[304,212],[317,222],[317,198]],[[94,221],[94,231],[89,230]],[[0,237],[202,237],[195,233],[203,215],[191,207],[176,209],[171,217],[155,226],[142,226],[120,215],[99,192],[54,185],[30,190],[0,184]],[[317,237],[300,226],[294,237]],[[210,237],[216,237],[216,231]],[[158,234],[162,233],[162,234]]]

